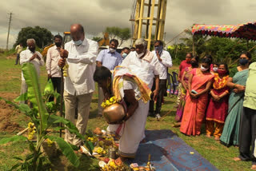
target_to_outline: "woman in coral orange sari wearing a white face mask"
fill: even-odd
[[[193,69],[189,79],[186,105],[180,131],[186,135],[200,135],[208,104],[208,92],[214,75],[210,74],[210,59],[203,58],[200,69]]]

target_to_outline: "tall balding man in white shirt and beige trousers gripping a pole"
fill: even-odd
[[[69,65],[64,78],[65,118],[74,123],[75,108],[78,106],[79,133],[86,133],[86,125],[90,113],[90,101],[94,92],[94,70],[98,54],[98,43],[85,38],[85,32],[80,24],[70,27],[72,41],[65,44],[65,50],[60,51],[61,59],[58,66]],[[68,54],[67,58],[66,54]],[[75,124],[75,123],[74,123]],[[65,141],[73,145],[82,145],[82,140],[65,130]]]

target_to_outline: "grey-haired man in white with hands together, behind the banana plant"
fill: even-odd
[[[23,50],[20,54],[20,64],[22,65],[23,63],[30,62],[34,64],[35,70],[38,73],[38,78],[40,75],[40,66],[43,66],[45,62],[42,59],[42,55],[38,52],[35,51],[35,40],[34,38],[27,39],[26,41],[27,44],[27,50]],[[21,89],[21,94],[26,93],[27,91],[27,85],[25,78],[23,77],[22,73],[22,89]],[[20,101],[20,103],[25,103],[26,101]]]

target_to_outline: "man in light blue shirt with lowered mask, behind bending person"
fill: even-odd
[[[120,66],[122,63],[122,56],[116,50],[118,48],[118,40],[110,40],[109,49],[102,50],[96,58],[97,66],[105,66],[109,70],[114,70],[114,67]],[[102,102],[104,94],[101,87],[98,87],[98,116],[102,116]]]

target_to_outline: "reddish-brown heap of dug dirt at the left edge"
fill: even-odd
[[[0,93],[0,97],[12,101],[18,94],[16,93]],[[12,105],[6,104],[5,101],[0,101],[0,131],[12,133],[22,130],[22,127],[14,121],[15,117],[21,114]]]

